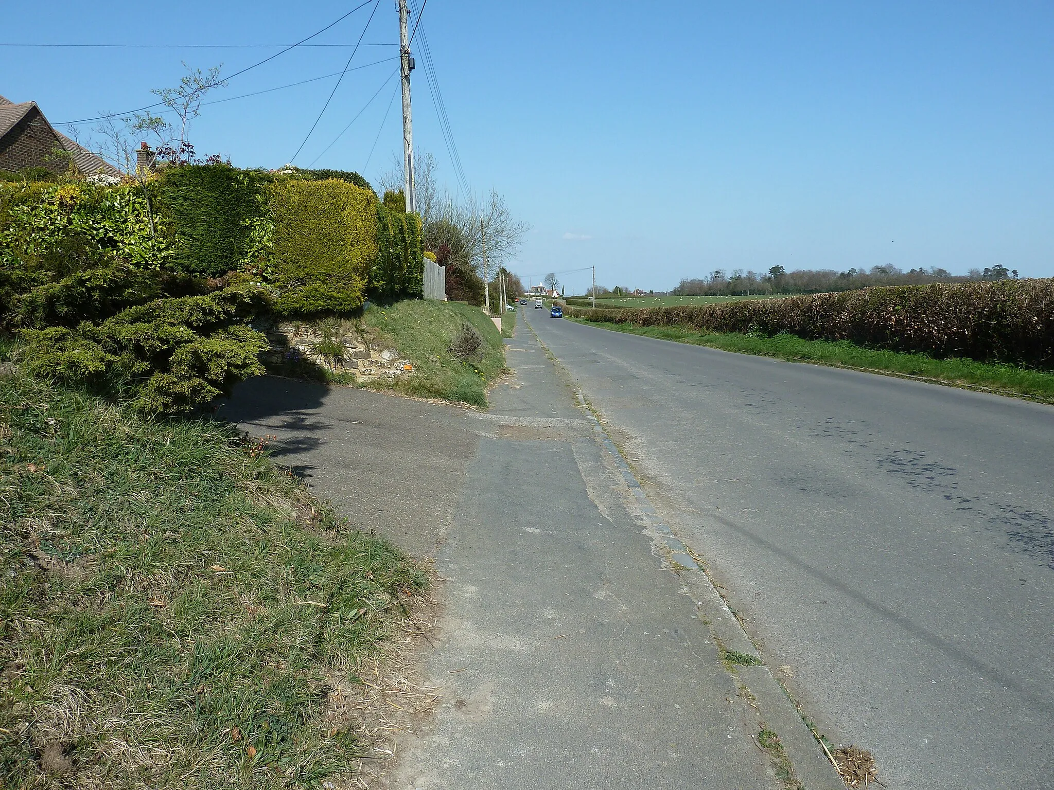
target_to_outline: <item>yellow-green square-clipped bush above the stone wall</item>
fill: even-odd
[[[362,307],[377,258],[373,193],[336,179],[282,179],[267,198],[275,311],[306,316]]]

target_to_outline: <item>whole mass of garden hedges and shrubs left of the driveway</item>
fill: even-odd
[[[218,164],[0,183],[0,329],[34,375],[193,410],[262,372],[254,316],[422,295],[419,219],[352,180]]]

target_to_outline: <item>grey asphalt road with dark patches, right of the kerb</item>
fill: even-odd
[[[832,739],[1054,787],[1054,408],[524,312]]]

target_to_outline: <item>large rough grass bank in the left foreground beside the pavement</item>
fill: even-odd
[[[425,584],[227,427],[0,378],[2,787],[338,781]]]

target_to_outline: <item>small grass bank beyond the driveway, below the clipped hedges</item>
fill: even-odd
[[[378,387],[486,407],[487,386],[505,372],[505,343],[494,322],[479,308],[412,299],[391,307],[371,307],[364,320],[414,367],[412,375]],[[448,350],[466,323],[483,336],[476,359],[461,360]]]

